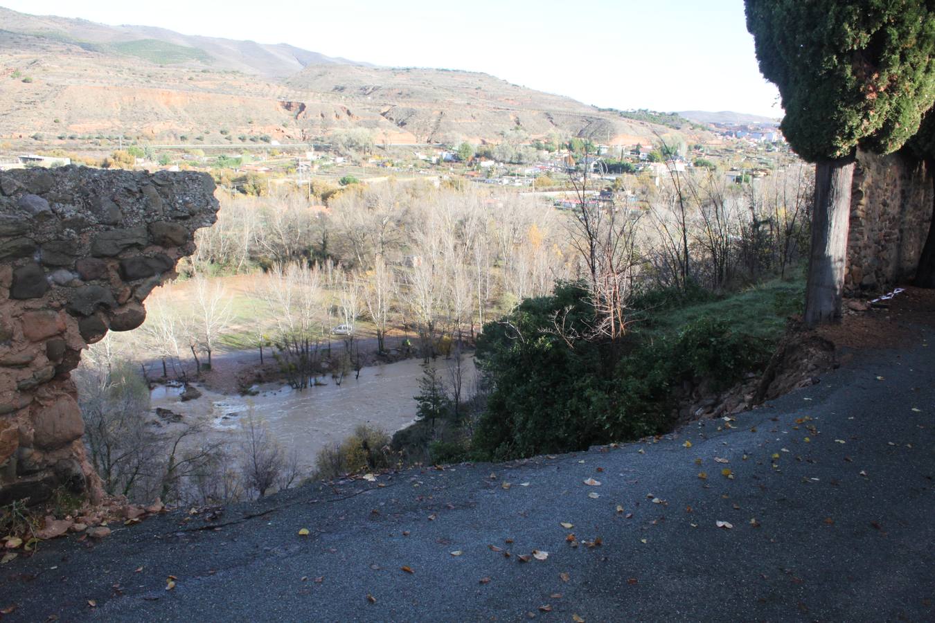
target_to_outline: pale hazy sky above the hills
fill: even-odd
[[[290,43],[373,64],[482,71],[597,106],[782,116],[778,92],[756,67],[742,0],[0,0],[0,6]]]

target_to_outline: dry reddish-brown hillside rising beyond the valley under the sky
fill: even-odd
[[[669,131],[485,74],[373,67],[286,44],[5,8],[0,23],[0,139],[37,135],[46,148],[115,135],[288,143],[355,127],[378,144],[497,142],[517,129],[629,144]]]

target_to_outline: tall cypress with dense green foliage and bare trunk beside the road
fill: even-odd
[[[935,99],[935,0],[745,0],[783,134],[815,163],[809,326],[841,318],[857,147],[891,153]]]

